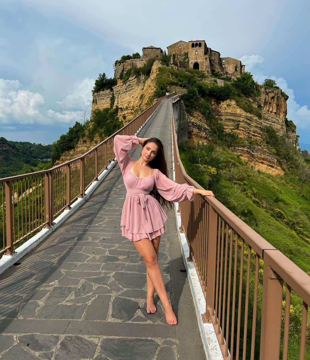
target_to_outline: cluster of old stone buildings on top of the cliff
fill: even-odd
[[[178,68],[196,69],[211,75],[218,75],[236,78],[245,72],[245,65],[241,61],[231,57],[222,58],[219,51],[209,48],[205,40],[179,40],[167,46],[171,55],[170,63]],[[165,50],[155,46],[142,48],[142,59],[150,57],[163,57]]]

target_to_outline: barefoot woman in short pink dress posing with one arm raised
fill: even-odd
[[[128,151],[137,148],[139,144],[142,145],[141,157],[133,161]],[[177,318],[158,264],[160,235],[166,230],[165,221],[168,219],[160,203],[173,208],[172,202],[192,201],[193,194],[214,195],[211,191],[195,189],[188,184],[177,184],[167,177],[164,148],[158,138],[116,135],[113,150],[127,190],[120,219],[122,235],[132,240],[146,264],[146,311],[149,314],[156,311],[156,290],[165,308],[167,323],[176,325]]]

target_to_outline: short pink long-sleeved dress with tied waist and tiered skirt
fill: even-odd
[[[165,232],[167,215],[159,202],[150,195],[152,189],[158,190],[168,201],[181,202],[194,198],[194,186],[177,184],[158,169],[147,177],[137,177],[131,171],[132,158],[128,151],[139,146],[135,135],[116,135],[114,137],[114,154],[123,174],[127,190],[123,205],[120,226],[122,235],[132,241],[149,238],[155,239]]]

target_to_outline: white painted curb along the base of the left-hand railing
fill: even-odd
[[[151,114],[151,116],[142,124],[140,129],[135,133],[135,135],[139,134],[139,132],[143,129],[146,123],[150,120],[150,118],[155,114],[155,112],[160,108],[161,103],[158,108]],[[104,180],[104,178],[109,174],[111,169],[117,163],[117,159],[114,158],[113,161],[110,162],[106,170],[102,171],[98,176],[98,181],[94,181],[86,190],[85,196],[83,198],[78,198],[72,205],[70,210],[64,210],[56,219],[54,220],[54,225],[48,229],[42,229],[39,233],[34,235],[32,238],[27,240],[18,248],[14,249],[15,252],[13,255],[3,255],[0,259],[0,274],[2,274],[6,269],[15,264],[20,258],[26,255],[31,249],[37,246],[42,240],[44,240],[50,233],[52,233],[55,229],[58,228],[60,224],[62,224],[65,220],[68,219],[77,209],[82,206],[86,200],[90,197],[90,195],[97,189],[99,184]]]

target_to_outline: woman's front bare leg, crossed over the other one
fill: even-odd
[[[149,239],[141,239],[140,241],[133,241],[135,248],[137,249],[140,256],[142,256],[147,273],[154,285],[156,292],[165,308],[166,320],[170,325],[177,324],[177,318],[172,310],[171,303],[168,299],[163,275],[158,265],[158,257],[152,242]]]

